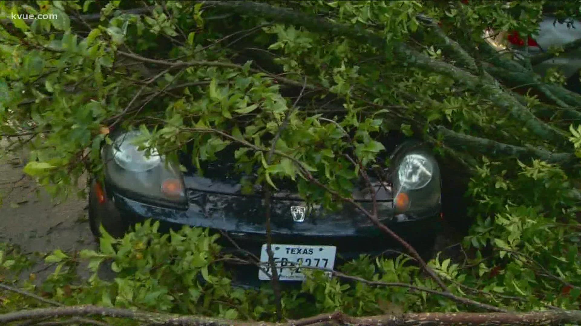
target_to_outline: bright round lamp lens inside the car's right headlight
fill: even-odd
[[[401,186],[409,190],[425,187],[432,180],[432,174],[432,162],[419,154],[406,155],[397,171]]]

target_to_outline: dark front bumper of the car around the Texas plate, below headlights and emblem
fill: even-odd
[[[130,227],[132,224],[152,219],[160,222],[159,231],[161,232],[167,232],[170,229],[178,230],[183,226],[205,227],[212,233],[223,235],[218,240],[223,246],[223,252],[242,257],[248,253],[260,256],[261,246],[266,243],[264,223],[241,222],[236,219],[235,214],[209,218],[203,209],[192,204],[189,204],[187,209],[160,207],[132,200],[115,191],[109,191],[106,197],[105,205],[95,201],[90,202],[89,209],[93,214],[101,215],[99,220],[106,220],[107,216],[120,216],[123,219],[121,224]],[[292,219],[290,221],[292,222]],[[419,218],[417,216],[410,218],[400,214],[384,223],[404,240],[410,242],[418,252],[428,252],[433,246],[433,239],[440,231],[440,222],[439,209],[435,209]],[[224,234],[227,234],[227,237]],[[301,223],[271,223],[271,234],[272,243],[276,244],[333,245],[337,248],[335,266],[340,266],[363,254],[378,256],[386,251],[393,253],[403,250],[398,242],[390,239],[371,222],[306,219]],[[242,248],[246,253],[239,251],[236,247]],[[260,284],[256,266],[231,267],[235,269],[235,281],[239,284],[252,286]]]

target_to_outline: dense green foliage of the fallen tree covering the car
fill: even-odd
[[[193,144],[198,166],[241,144],[239,169],[260,166],[248,189],[286,179],[309,201],[336,207],[342,202],[306,175],[350,197],[361,166],[389,166],[381,137],[401,131],[472,173],[462,218],[475,223],[454,246],[464,255],[429,262],[450,292],[522,311],[579,308],[581,96],[558,84],[558,71],[541,80],[526,60],[497,55],[482,39],[487,28],[535,35],[543,15],[576,18],[579,2],[272,1],[261,2],[270,6],[260,7],[264,15],[243,14],[253,2],[145,3],[146,15],[135,15],[120,10],[137,5],[120,1],[0,2],[0,13],[58,15],[0,25],[0,137],[20,136],[30,148],[24,171],[53,195],[76,190],[87,170],[99,175],[110,130],[135,128],[143,144],[174,160]],[[278,15],[280,8],[302,16]],[[90,13],[101,19],[75,18]],[[534,84],[524,96],[513,92],[523,80]],[[470,146],[466,135],[497,143]],[[156,228],[105,236],[99,252],[52,253],[45,259],[59,267],[37,290],[67,305],[274,320],[272,289],[233,289],[214,236]],[[0,249],[3,269],[24,266]],[[81,260],[95,271],[112,260],[119,274],[70,285]],[[342,271],[436,291],[413,260],[363,256]],[[15,299],[6,309],[28,304]],[[320,272],[284,291],[282,306],[287,318],[475,310]]]

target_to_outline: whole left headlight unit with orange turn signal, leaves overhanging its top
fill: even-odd
[[[177,165],[167,162],[157,150],[150,155],[132,144],[139,131],[117,136],[103,148],[107,182],[133,200],[169,207],[187,207],[185,185]]]

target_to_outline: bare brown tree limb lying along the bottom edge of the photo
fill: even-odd
[[[547,310],[532,313],[405,313],[386,314],[370,317],[351,317],[340,312],[321,314],[314,317],[289,321],[288,323],[263,323],[224,320],[221,318],[201,316],[180,316],[177,314],[149,313],[146,311],[109,308],[98,306],[69,306],[49,309],[21,310],[0,315],[0,323],[6,324],[21,320],[38,320],[41,318],[60,318],[71,316],[102,316],[114,318],[130,318],[147,322],[150,325],[176,326],[307,326],[321,323],[335,325],[410,325],[410,324],[557,324],[581,323],[581,311],[578,310]]]

